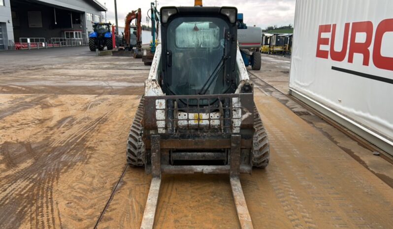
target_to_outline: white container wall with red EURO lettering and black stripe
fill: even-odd
[[[393,0],[296,0],[290,93],[391,151]]]

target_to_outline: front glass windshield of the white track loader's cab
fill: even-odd
[[[167,88],[172,94],[198,94],[206,87],[204,94],[220,94],[228,89],[223,74],[224,46],[229,49],[224,34],[228,30],[226,21],[214,17],[176,18],[170,22],[167,52],[171,65]]]

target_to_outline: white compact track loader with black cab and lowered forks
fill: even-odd
[[[239,173],[269,163],[269,143],[237,45],[235,7],[162,7],[161,41],[127,143],[152,174],[141,228],[152,228],[162,173],[227,173],[252,228]]]

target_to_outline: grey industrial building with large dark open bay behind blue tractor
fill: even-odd
[[[106,10],[98,0],[0,0],[0,50],[28,41],[87,40]]]

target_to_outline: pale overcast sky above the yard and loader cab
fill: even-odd
[[[106,3],[107,21],[115,24],[114,0],[99,0]],[[128,12],[141,8],[142,24],[146,23],[146,13],[150,9],[150,0],[117,0],[119,26],[124,27],[124,18]],[[256,25],[265,29],[267,26],[294,25],[295,0],[203,0],[204,6],[235,6],[244,14],[248,26]],[[162,6],[194,6],[194,0],[158,0],[158,9]],[[134,22],[133,22],[134,23]]]

